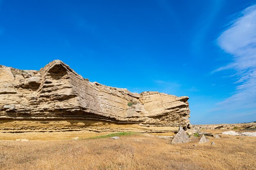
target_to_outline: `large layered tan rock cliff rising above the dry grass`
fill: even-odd
[[[60,60],[40,71],[0,66],[0,131],[171,132],[189,125],[189,97],[89,82]]]

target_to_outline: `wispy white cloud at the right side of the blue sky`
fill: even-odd
[[[256,5],[240,13],[218,38],[219,46],[233,55],[233,62],[213,71],[234,69],[237,72],[236,91],[218,108],[236,110],[256,107]]]

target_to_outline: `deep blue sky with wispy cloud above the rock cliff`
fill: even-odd
[[[256,0],[0,0],[0,64],[189,96],[192,124],[256,120]]]

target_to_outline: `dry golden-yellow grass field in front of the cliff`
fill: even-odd
[[[171,145],[145,135],[119,140],[0,141],[0,170],[255,170],[256,138]]]

